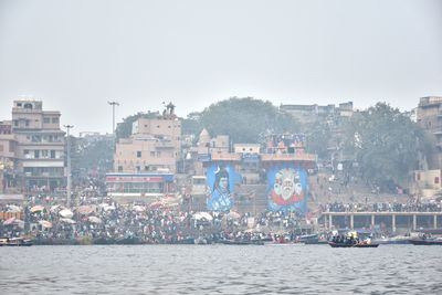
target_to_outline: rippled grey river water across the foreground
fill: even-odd
[[[442,294],[442,246],[0,247],[0,294]]]

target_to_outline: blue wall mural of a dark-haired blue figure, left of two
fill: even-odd
[[[207,168],[206,177],[208,210],[229,211],[234,204],[234,189],[241,182],[241,175],[231,165],[212,164]]]

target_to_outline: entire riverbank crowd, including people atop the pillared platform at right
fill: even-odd
[[[186,208],[186,209],[183,209]],[[315,212],[364,212],[376,210],[420,210],[438,212],[440,203],[327,203]],[[29,196],[24,204],[7,203],[0,212],[10,218],[0,221],[0,236],[24,236],[34,244],[193,244],[219,241],[296,242],[306,234],[329,240],[339,229],[315,229],[314,213],[265,211],[199,212],[188,210],[181,200],[170,197],[150,203],[118,203],[110,198],[82,198],[74,207],[57,199]],[[387,236],[381,228],[362,229],[373,236]]]

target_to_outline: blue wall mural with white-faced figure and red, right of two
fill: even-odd
[[[277,165],[267,169],[267,200],[271,211],[307,209],[307,171],[294,165]]]

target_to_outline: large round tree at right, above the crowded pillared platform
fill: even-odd
[[[417,124],[385,103],[355,113],[347,126],[346,148],[354,151],[364,177],[381,188],[402,183],[418,168],[429,146]]]

